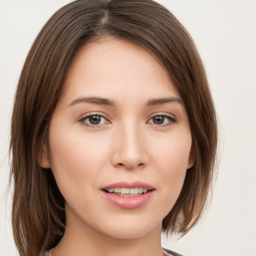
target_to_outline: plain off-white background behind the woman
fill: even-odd
[[[0,0],[0,256],[15,255],[8,182],[9,120],[22,63],[39,29],[69,0]],[[186,256],[256,256],[256,0],[158,0],[187,28],[202,56],[220,120],[211,204],[165,247]]]

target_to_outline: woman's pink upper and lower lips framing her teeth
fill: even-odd
[[[118,194],[107,193],[105,191],[109,188],[115,188],[115,187],[126,187],[126,188],[143,187],[143,188],[147,188],[150,191],[144,194],[139,194],[135,196],[121,196]],[[152,185],[141,182],[141,181],[134,181],[134,182],[121,181],[121,182],[112,183],[102,187],[100,192],[104,196],[104,198],[114,206],[117,206],[119,208],[124,208],[124,209],[135,209],[145,204],[152,197],[154,191],[155,189]]]

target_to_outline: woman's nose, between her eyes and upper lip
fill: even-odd
[[[147,165],[146,141],[138,125],[118,127],[114,136],[111,163],[115,167],[129,170]]]

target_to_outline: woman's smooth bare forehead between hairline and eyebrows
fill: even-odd
[[[142,47],[126,40],[105,39],[82,46],[74,55],[62,97],[101,96],[120,100],[180,97],[160,61]]]

